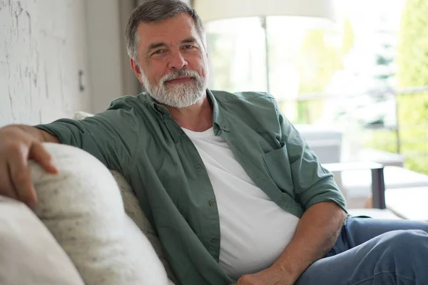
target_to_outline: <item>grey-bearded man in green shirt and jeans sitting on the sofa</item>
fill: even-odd
[[[61,142],[131,182],[180,284],[428,282],[427,223],[347,217],[331,173],[270,95],[207,90],[193,9],[148,1],[126,38],[148,93],[82,121],[2,128],[1,195],[35,207],[27,160],[56,172],[41,142]]]

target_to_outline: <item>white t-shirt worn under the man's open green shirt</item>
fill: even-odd
[[[183,128],[203,160],[220,216],[220,265],[234,279],[266,269],[292,239],[299,219],[260,190],[213,128]]]

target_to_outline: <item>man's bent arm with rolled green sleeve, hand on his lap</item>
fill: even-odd
[[[332,248],[347,217],[345,198],[331,172],[275,105],[281,142],[285,144],[294,192],[304,209],[296,232],[270,268],[243,276],[239,285],[293,284],[300,274]]]

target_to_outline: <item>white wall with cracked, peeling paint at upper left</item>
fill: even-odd
[[[0,126],[92,111],[85,2],[0,0]]]

